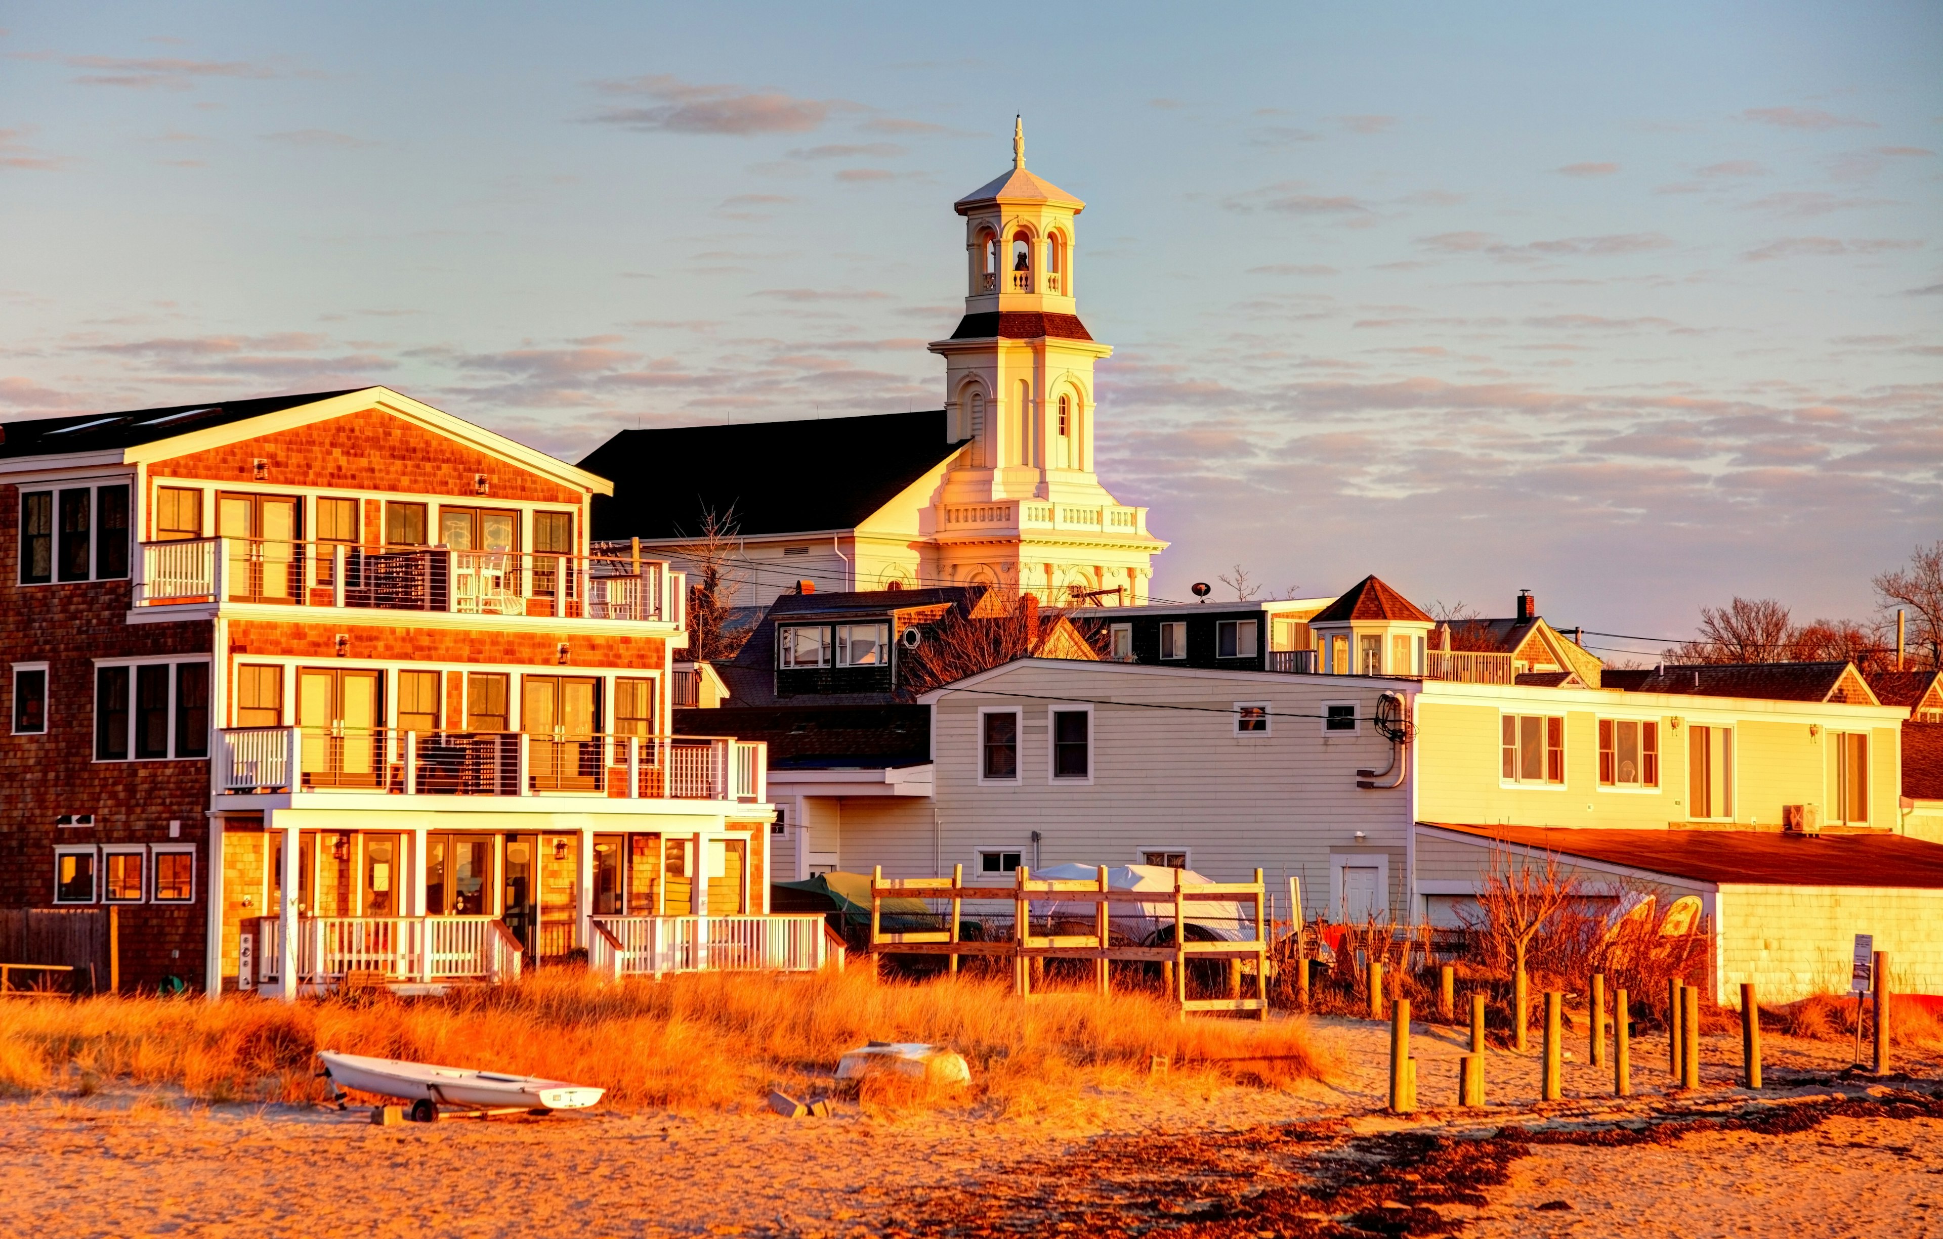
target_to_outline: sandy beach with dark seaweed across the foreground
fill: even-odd
[[[1634,1043],[1611,1097],[1574,1047],[1566,1099],[1494,1053],[1486,1111],[1455,1093],[1457,1029],[1415,1037],[1424,1113],[1381,1113],[1387,1029],[1315,1020],[1327,1084],[1129,1082],[1049,1117],[832,1119],[659,1111],[373,1126],[354,1107],[202,1105],[163,1089],[0,1109],[0,1233],[973,1235],[973,1233],[1939,1233],[1933,1055],[1842,1078],[1848,1047],[1770,1037],[1768,1084],[1669,1091]]]

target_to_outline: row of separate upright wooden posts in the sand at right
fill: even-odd
[[[1875,1056],[1871,1068],[1877,1076],[1889,1074],[1889,955],[1875,952]],[[1370,1006],[1381,1018],[1383,965],[1370,963]],[[1455,971],[1444,965],[1440,971],[1438,1004],[1446,1020],[1453,1018]],[[1523,1010],[1517,1012],[1517,1041],[1523,1049]],[[1605,1066],[1605,975],[1591,977],[1591,1018],[1587,1035],[1587,1060],[1591,1066]],[[1558,1101],[1564,1097],[1564,992],[1545,992],[1545,1066],[1539,1076],[1539,1099]],[[1859,1035],[1859,1021],[1858,1021]],[[1632,1010],[1624,988],[1613,992],[1613,1095],[1632,1095]],[[1700,987],[1687,985],[1675,977],[1667,983],[1667,1074],[1683,1089],[1700,1088]],[[1741,1084],[1751,1089],[1760,1088],[1760,1004],[1755,998],[1755,985],[1741,983]],[[1471,992],[1471,1053],[1457,1060],[1457,1105],[1484,1105],[1484,994]],[[1389,1111],[1409,1115],[1416,1111],[1416,1058],[1411,1056],[1411,1000],[1395,998],[1389,1006]]]

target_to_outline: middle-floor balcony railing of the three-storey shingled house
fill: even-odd
[[[762,804],[769,783],[769,746],[727,736],[231,726],[218,738],[220,790],[231,794],[589,794]]]

